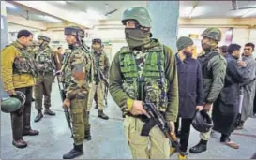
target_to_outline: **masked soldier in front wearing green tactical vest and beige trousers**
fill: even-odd
[[[110,93],[126,114],[124,129],[133,158],[169,159],[169,139],[158,126],[150,129],[149,137],[141,133],[149,121],[143,109],[144,101],[158,107],[174,132],[178,83],[173,51],[158,39],[150,38],[151,18],[144,7],[128,8],[122,22],[126,26],[128,47],[123,47],[113,58]]]

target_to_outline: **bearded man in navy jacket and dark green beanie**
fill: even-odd
[[[179,83],[179,113],[181,117],[180,144],[181,152],[178,159],[187,159],[188,138],[190,124],[196,109],[203,109],[203,76],[202,68],[198,60],[192,59],[193,41],[189,37],[182,36],[177,41],[178,53],[175,55],[178,68]],[[175,123],[178,129],[179,118]],[[171,148],[171,154],[175,149]]]

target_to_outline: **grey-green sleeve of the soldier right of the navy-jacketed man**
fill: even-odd
[[[217,99],[219,93],[224,87],[227,61],[221,56],[214,56],[209,61],[209,65],[212,67],[213,81],[210,87],[210,92],[208,95],[206,95],[206,103],[212,104]]]

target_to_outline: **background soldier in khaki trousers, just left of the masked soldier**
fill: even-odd
[[[109,78],[110,62],[106,53],[103,52],[101,39],[93,39],[92,55],[94,57],[94,80],[92,82],[89,100],[88,111],[90,111],[95,94],[97,93],[98,117],[108,120],[109,117],[103,113],[104,109],[104,94],[105,82]]]

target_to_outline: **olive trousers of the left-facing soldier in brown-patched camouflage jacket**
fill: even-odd
[[[88,124],[87,96],[83,99],[74,98],[71,100],[70,112],[73,126],[73,139],[75,145],[83,144],[84,126]]]

